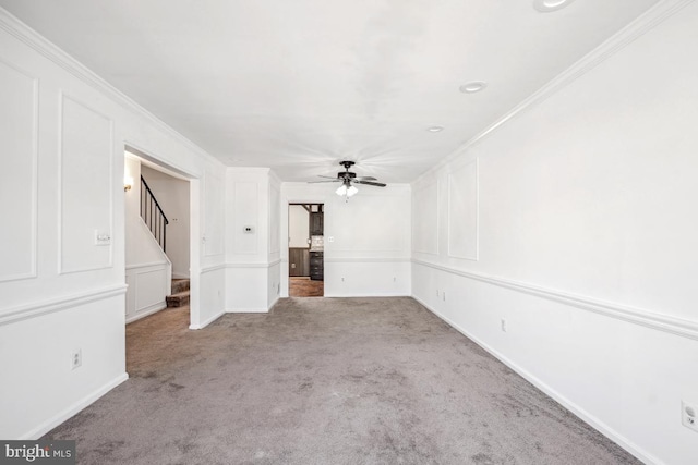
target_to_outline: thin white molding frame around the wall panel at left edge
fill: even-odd
[[[37,244],[38,244],[38,152],[39,152],[39,79],[33,76],[27,71],[10,63],[7,60],[0,58],[0,64],[7,66],[9,70],[26,77],[32,83],[32,147],[31,147],[31,183],[29,183],[29,196],[31,196],[31,225],[29,225],[29,270],[24,273],[13,273],[0,276],[0,282],[19,281],[24,279],[31,279],[37,277]],[[14,119],[16,120],[16,115]],[[16,154],[15,154],[16,155]],[[13,173],[16,176],[16,173]]]

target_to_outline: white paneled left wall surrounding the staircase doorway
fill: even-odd
[[[0,437],[36,438],[127,379],[124,146],[193,179],[221,168],[3,10],[0,102],[0,186],[12,198],[0,208],[13,218],[0,237]],[[209,195],[222,204],[204,193],[197,210]],[[201,221],[222,224],[222,211]],[[95,231],[109,238],[96,244]],[[198,311],[209,291],[196,285]]]

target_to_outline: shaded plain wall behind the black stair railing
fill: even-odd
[[[189,278],[190,224],[189,181],[142,166],[141,173],[157,198],[169,224],[166,253],[172,262],[173,278]],[[134,182],[140,184],[135,179]]]

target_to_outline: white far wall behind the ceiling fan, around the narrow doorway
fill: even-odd
[[[324,204],[325,296],[410,295],[410,186],[364,186],[348,203],[332,186],[281,184],[281,237],[288,205]],[[288,296],[288,248],[281,250]]]

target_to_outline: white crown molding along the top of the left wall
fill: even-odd
[[[220,160],[208,154],[206,150],[194,144],[192,140],[186,138],[184,135],[176,131],[173,127],[165,123],[163,120],[157,118],[155,114],[151,113],[131,97],[123,94],[121,90],[117,89],[115,86],[109,84],[103,77],[97,75],[95,72],[89,70],[87,66],[82,64],[80,61],[68,54],[61,48],[49,41],[47,38],[41,36],[39,33],[31,28],[28,25],[23,23],[20,19],[12,15],[10,12],[0,8],[0,29],[9,33],[11,36],[34,49],[45,58],[49,59],[51,62],[69,72],[74,77],[79,78],[83,83],[93,87],[100,94],[104,94],[106,97],[111,99],[118,105],[127,108],[128,110],[134,112],[135,114],[142,117],[149,123],[152,123],[155,127],[163,131],[167,135],[173,137],[179,143],[184,145],[186,148],[192,150],[195,155],[203,158],[206,161],[222,164]]]

